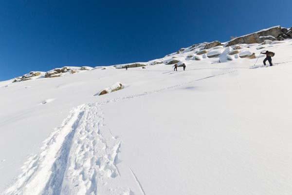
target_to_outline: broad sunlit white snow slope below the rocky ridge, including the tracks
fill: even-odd
[[[290,195],[292,39],[239,46],[274,66],[219,46],[0,82],[0,193]]]

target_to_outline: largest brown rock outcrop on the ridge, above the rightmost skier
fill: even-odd
[[[283,30],[280,26],[272,27],[269,29],[265,29],[256,33],[252,33],[249,35],[245,35],[242,37],[238,37],[235,39],[230,40],[225,46],[231,46],[235,44],[252,44],[252,43],[261,43],[266,39],[269,40],[276,40],[283,37],[282,35],[285,34],[286,30]],[[289,36],[289,31],[285,35]]]

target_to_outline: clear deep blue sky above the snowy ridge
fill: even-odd
[[[291,27],[292,0],[1,0],[0,80],[147,61],[203,41]]]

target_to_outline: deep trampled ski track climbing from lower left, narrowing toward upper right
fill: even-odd
[[[104,136],[103,105],[233,72],[236,70],[142,94],[78,106],[44,141],[40,153],[24,163],[22,174],[4,195],[97,195],[99,189],[107,187],[109,179],[120,176],[116,165],[122,142],[109,129],[110,136]],[[137,176],[131,169],[130,172],[143,195],[146,195]],[[133,195],[129,188],[116,187],[108,191],[110,195]]]

